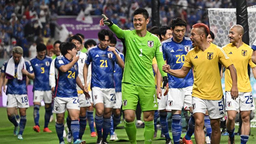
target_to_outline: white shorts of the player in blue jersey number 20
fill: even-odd
[[[192,88],[193,86],[188,86],[179,89],[169,89],[167,96],[167,111],[171,110],[182,110],[184,107],[185,110],[189,110],[191,107],[192,101]]]

